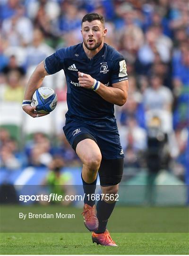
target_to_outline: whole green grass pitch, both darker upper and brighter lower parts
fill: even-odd
[[[19,212],[30,211],[70,212],[76,214],[76,219],[18,218]],[[0,254],[189,255],[186,207],[116,207],[108,229],[118,247],[93,244],[91,233],[83,225],[81,211],[55,205],[1,206]],[[65,233],[60,233],[62,231]]]

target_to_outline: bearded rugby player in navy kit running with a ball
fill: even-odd
[[[123,173],[124,154],[114,104],[122,106],[127,101],[128,76],[124,57],[103,42],[106,33],[103,16],[86,14],[81,25],[83,43],[57,50],[38,64],[27,84],[24,100],[31,101],[46,75],[64,70],[68,112],[63,130],[83,163],[84,224],[93,231],[93,242],[117,246],[106,226]],[[44,115],[36,114],[34,109],[23,104],[23,110],[30,116]],[[97,173],[106,196],[99,198],[95,210],[91,195],[95,192]]]

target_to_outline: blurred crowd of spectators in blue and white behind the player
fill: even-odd
[[[145,167],[150,138],[161,141],[163,134],[169,155],[165,168],[184,181],[189,165],[188,0],[1,0],[0,100],[21,103],[35,66],[56,49],[82,42],[81,19],[88,12],[103,14],[105,42],[127,63],[129,98],[115,108],[125,167]],[[45,78],[43,85],[57,92],[59,102],[66,101],[63,72]],[[67,166],[80,165],[63,134],[52,141],[36,133],[22,149],[6,129],[0,136],[6,168],[46,166],[55,155]]]

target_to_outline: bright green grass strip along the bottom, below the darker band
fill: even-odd
[[[112,233],[119,247],[92,243],[88,233],[1,233],[1,254],[189,254],[187,233]]]

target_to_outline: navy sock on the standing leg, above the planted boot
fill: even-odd
[[[97,218],[99,221],[98,230],[95,233],[104,233],[106,230],[108,219],[110,218],[112,211],[115,207],[116,201],[113,203],[107,203],[102,200],[100,196],[100,200],[97,202],[96,211],[97,211]]]

